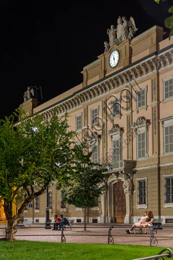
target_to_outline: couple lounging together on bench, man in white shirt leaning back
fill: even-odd
[[[131,227],[131,229],[126,230],[126,233],[131,234],[131,232],[133,231],[133,229],[135,228],[140,228],[139,234],[147,234],[147,226],[153,226],[152,222],[154,219],[154,215],[152,211],[148,212],[147,215],[147,211],[144,212],[144,215],[138,219],[138,222],[134,223]],[[145,228],[144,233],[142,233],[142,228]]]

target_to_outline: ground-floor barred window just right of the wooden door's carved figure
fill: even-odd
[[[147,178],[137,179],[137,208],[147,208]]]

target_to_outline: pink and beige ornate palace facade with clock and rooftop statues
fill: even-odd
[[[149,210],[173,223],[173,37],[163,40],[159,26],[134,37],[135,26],[125,34],[123,21],[105,52],[83,68],[81,84],[40,106],[29,98],[23,108],[46,118],[54,108],[67,112],[76,142],[87,140],[92,161],[107,169],[90,223],[132,223]],[[55,184],[48,192],[52,221],[64,214],[83,222],[82,209],[62,201],[63,190]],[[24,218],[45,222],[46,191],[31,204]]]

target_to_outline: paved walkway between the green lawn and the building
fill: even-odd
[[[108,244],[108,233],[110,226],[114,244],[150,245],[150,235],[127,234],[129,228],[126,224],[89,224],[84,231],[82,224],[74,224],[72,231],[67,228],[63,234],[66,243],[99,243]],[[3,225],[0,226],[3,228]],[[0,232],[2,233],[2,232]],[[1,234],[2,235],[2,234]],[[154,233],[158,246],[173,247],[173,226],[163,226],[162,230]],[[16,240],[47,241],[61,243],[61,231],[45,230],[44,224],[32,224],[31,228],[18,228]],[[156,245],[153,239],[152,245]]]

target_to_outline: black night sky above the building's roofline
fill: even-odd
[[[134,18],[135,36],[164,19],[173,1],[114,1],[114,4],[57,4],[56,1],[0,2],[0,118],[23,103],[27,86],[41,87],[43,102],[82,82],[81,71],[104,52],[107,29],[119,16]],[[59,2],[60,3],[60,2]],[[39,96],[38,89],[38,96]],[[40,104],[42,100],[40,98]]]

